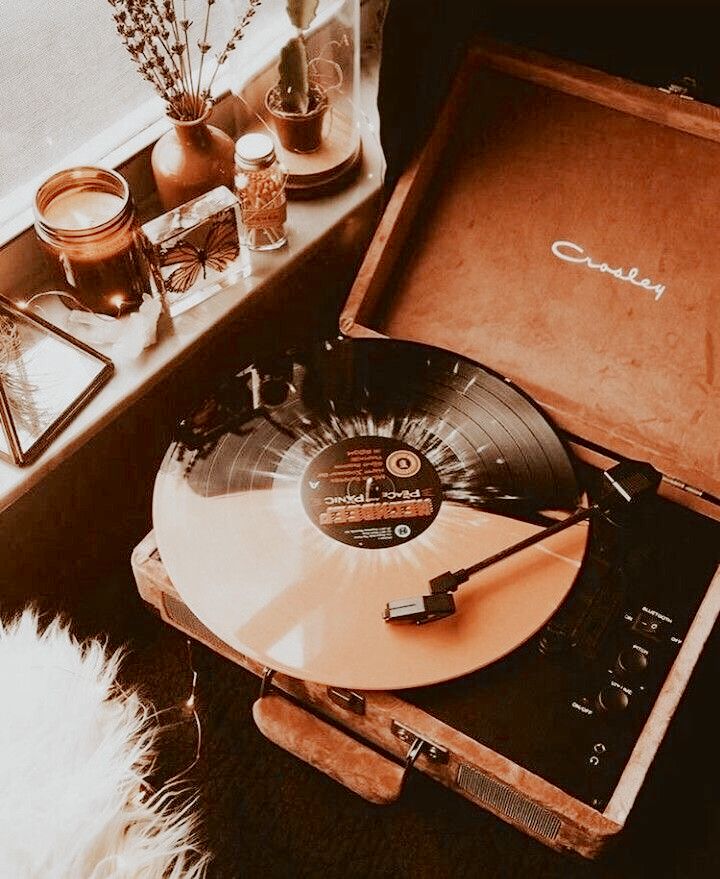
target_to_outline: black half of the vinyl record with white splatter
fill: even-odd
[[[547,417],[467,358],[414,342],[343,338],[279,362],[285,390],[273,379],[268,405],[253,408],[244,375],[218,389],[209,428],[207,404],[204,420],[195,413],[183,422],[173,456],[184,459],[198,493],[270,488],[280,472],[299,476],[333,441],[391,431],[436,466],[448,499],[500,510],[513,501],[537,510],[576,503],[572,464]]]

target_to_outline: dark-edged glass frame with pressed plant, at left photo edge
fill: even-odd
[[[0,296],[0,457],[32,463],[113,371],[108,357]]]

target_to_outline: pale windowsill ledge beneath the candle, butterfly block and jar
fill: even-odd
[[[94,345],[115,360],[115,374],[38,461],[24,468],[0,461],[0,512],[167,377],[203,342],[240,317],[243,303],[250,297],[269,296],[295,273],[299,277],[304,263],[325,248],[344,248],[351,258],[353,245],[364,240],[377,219],[384,166],[377,136],[364,130],[362,141],[363,155],[354,180],[334,195],[291,202],[286,227],[288,245],[274,253],[253,253],[250,277],[219,291],[172,321],[164,316],[158,327],[157,343],[135,360],[118,360],[113,357],[111,346]],[[45,315],[60,323],[64,316],[62,306],[50,315],[45,302],[38,303],[45,309]]]

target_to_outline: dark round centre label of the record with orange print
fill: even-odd
[[[442,504],[435,468],[406,442],[349,437],[323,449],[302,479],[311,522],[348,546],[381,549],[422,534]]]

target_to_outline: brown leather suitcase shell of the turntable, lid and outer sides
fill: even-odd
[[[665,474],[663,491],[718,517],[718,169],[717,110],[478,46],[396,187],[341,329],[485,363],[529,392],[585,457],[649,460]],[[262,677],[183,604],[152,533],[133,567],[163,619]],[[622,828],[719,609],[716,575],[602,812],[392,693],[282,674],[272,686],[400,763],[415,744],[416,768],[547,845],[593,857]],[[277,733],[265,714],[264,731]],[[342,766],[321,768],[367,796]],[[400,785],[388,772],[374,801]]]

